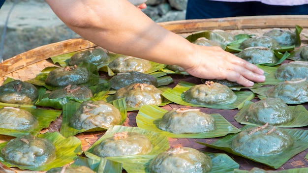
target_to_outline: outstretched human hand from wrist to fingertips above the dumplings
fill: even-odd
[[[220,47],[196,45],[191,63],[186,65],[182,67],[187,73],[202,79],[226,79],[245,87],[253,86],[252,81],[265,81],[262,69]]]

